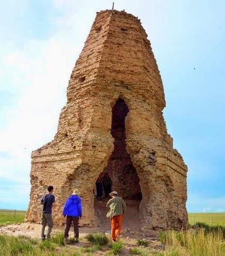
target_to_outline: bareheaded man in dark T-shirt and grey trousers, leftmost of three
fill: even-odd
[[[44,194],[41,198],[41,204],[43,204],[42,210],[42,221],[41,221],[41,239],[45,240],[46,238],[49,239],[51,235],[51,229],[53,227],[53,220],[52,220],[52,206],[55,204],[55,195],[53,195],[53,186],[48,186],[48,194]],[[48,231],[47,234],[44,235],[44,229],[48,224]]]

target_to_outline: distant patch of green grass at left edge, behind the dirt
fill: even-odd
[[[0,210],[0,226],[24,222],[26,211],[16,211],[14,218],[14,211]]]

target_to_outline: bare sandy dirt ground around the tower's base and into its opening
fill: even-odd
[[[110,237],[110,220],[106,218],[106,203],[109,199],[95,199],[95,212],[98,219],[98,227],[79,227],[79,243],[74,248],[85,247],[88,242],[85,236],[88,233],[103,232]],[[155,252],[160,251],[160,242],[158,242],[157,231],[141,231],[141,222],[139,220],[139,201],[125,200],[127,204],[127,214],[124,216],[122,224],[121,241],[124,243],[123,255],[130,255],[129,250],[137,247],[137,239],[149,241],[149,249]],[[46,227],[47,229],[48,227]],[[0,234],[25,235],[31,238],[40,238],[41,224],[37,223],[17,223],[0,227]],[[64,226],[54,225],[52,235],[58,232],[64,232]],[[70,228],[69,237],[73,237],[73,227]],[[71,247],[71,246],[70,246]],[[109,250],[109,249],[105,249]],[[104,250],[96,252],[94,255],[104,254]]]

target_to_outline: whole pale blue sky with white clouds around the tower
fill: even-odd
[[[225,2],[117,1],[138,16],[163,79],[164,117],[188,166],[189,212],[225,212]],[[96,11],[112,1],[8,0],[0,10],[0,208],[26,209],[31,151],[55,135]]]

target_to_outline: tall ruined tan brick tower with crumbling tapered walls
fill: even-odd
[[[80,224],[95,226],[93,189],[107,175],[112,190],[139,202],[143,227],[185,226],[187,167],[173,149],[164,107],[140,20],[123,11],[97,13],[70,76],[55,138],[32,152],[26,219],[40,221],[40,198],[53,185],[56,224],[65,222],[62,207],[76,188],[83,201]]]

